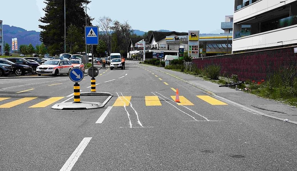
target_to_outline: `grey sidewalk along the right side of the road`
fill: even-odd
[[[243,110],[250,108],[252,110],[249,110],[249,111],[253,113],[255,113],[255,111],[259,111],[259,112],[256,112],[256,114],[261,114],[272,118],[277,117],[276,119],[281,119],[281,120],[289,119],[290,122],[294,122],[297,124],[297,108],[283,105],[281,103],[277,103],[272,100],[266,100],[264,98],[260,98],[255,95],[251,95],[249,93],[245,93],[242,91],[236,91],[235,89],[231,89],[228,87],[219,87],[219,84],[215,84],[210,81],[205,81],[203,79],[200,79],[198,77],[191,76],[185,73],[172,71],[172,70],[155,67],[151,65],[145,65],[145,64],[142,64],[142,65],[159,70],[166,74],[169,74],[175,77],[176,79],[180,79],[186,82],[187,84],[191,84],[192,86],[197,87],[198,89],[210,95],[213,95],[222,99],[225,98],[229,100],[229,102],[232,101],[240,105],[243,105],[241,106]],[[240,105],[237,105],[237,106],[240,106]],[[244,106],[247,108],[245,108]]]

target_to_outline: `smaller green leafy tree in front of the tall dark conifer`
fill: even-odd
[[[83,34],[80,32],[79,28],[75,25],[70,25],[67,34],[66,34],[66,44],[68,47],[68,51],[71,54],[82,50],[83,47]]]

